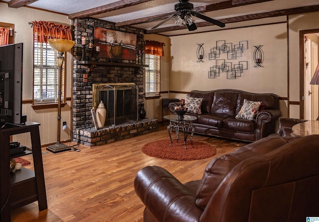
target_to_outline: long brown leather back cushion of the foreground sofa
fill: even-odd
[[[205,209],[217,187],[238,163],[253,156],[269,153],[294,139],[293,137],[265,137],[211,160],[198,186],[196,205]],[[267,146],[264,144],[266,142]]]

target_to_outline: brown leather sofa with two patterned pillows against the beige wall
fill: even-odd
[[[213,91],[191,91],[193,98],[203,98],[201,114],[193,121],[195,132],[204,135],[253,142],[275,132],[276,121],[280,116],[279,99],[275,94],[248,93],[240,90],[222,89]],[[254,120],[235,118],[243,106],[244,99],[262,102]],[[171,103],[174,111],[179,103]]]

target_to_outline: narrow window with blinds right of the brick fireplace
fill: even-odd
[[[160,56],[148,55],[145,56],[145,96],[160,96]]]

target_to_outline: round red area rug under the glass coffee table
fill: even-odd
[[[179,140],[173,141],[171,146],[170,140],[157,140],[149,142],[142,147],[142,152],[146,155],[169,160],[199,160],[211,157],[216,154],[216,148],[199,141],[186,141],[186,149],[184,142]]]

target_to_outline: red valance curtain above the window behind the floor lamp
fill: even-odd
[[[47,43],[50,38],[72,40],[70,27],[49,21],[32,21],[33,41]],[[36,37],[35,37],[36,36]]]

